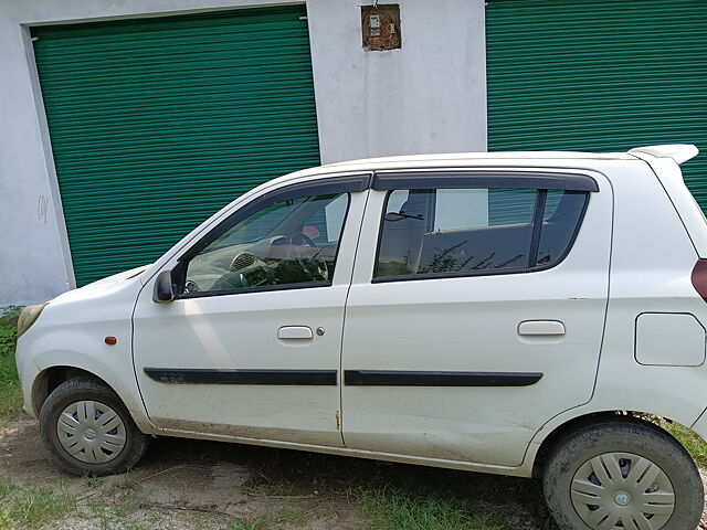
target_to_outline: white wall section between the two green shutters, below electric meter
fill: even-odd
[[[484,2],[399,0],[388,52],[361,46],[365,3],[308,0],[321,161],[485,151]]]

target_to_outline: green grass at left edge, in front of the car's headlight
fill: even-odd
[[[22,411],[22,389],[14,363],[20,307],[0,309],[0,427]]]

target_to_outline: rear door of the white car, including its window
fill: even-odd
[[[346,446],[520,465],[545,422],[592,394],[609,183],[403,171],[373,190],[346,309]]]

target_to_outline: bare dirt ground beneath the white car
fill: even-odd
[[[77,500],[77,509],[49,527],[60,529],[363,528],[358,492],[376,485],[424,480],[471,496],[511,521],[550,530],[540,484],[509,477],[310,453],[178,438],[158,438],[133,471],[78,478],[54,467],[30,418],[0,431],[0,476],[44,486]],[[707,474],[704,474],[707,477]],[[707,520],[707,519],[705,519]],[[233,521],[246,521],[233,526]],[[701,528],[707,528],[703,526]]]

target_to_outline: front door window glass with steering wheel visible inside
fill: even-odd
[[[330,285],[348,203],[333,193],[265,205],[189,261],[183,295]]]

